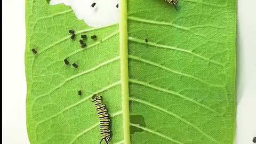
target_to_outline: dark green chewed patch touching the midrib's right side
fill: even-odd
[[[132,124],[139,124],[139,126],[146,127],[145,118],[142,115],[131,115],[130,122]],[[130,125],[130,132],[134,134],[135,132],[143,132],[144,130],[139,127]]]

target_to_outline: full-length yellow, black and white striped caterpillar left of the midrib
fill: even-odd
[[[110,137],[110,129],[109,129],[110,119],[107,113],[107,109],[105,105],[102,103],[101,96],[94,94],[92,96],[92,99],[93,99],[92,102],[94,102],[98,116],[100,118],[100,135],[102,138],[100,143],[102,142],[102,140],[105,140],[108,143],[111,140],[111,137]]]

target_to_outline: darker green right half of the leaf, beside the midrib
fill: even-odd
[[[131,141],[233,143],[236,1],[177,6],[128,1]]]

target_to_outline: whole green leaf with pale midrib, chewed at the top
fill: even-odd
[[[119,26],[92,28],[69,6],[27,0],[30,143],[99,143],[95,93],[110,114],[110,143],[233,143],[236,1],[176,6],[121,0]]]

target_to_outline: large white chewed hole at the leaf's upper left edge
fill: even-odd
[[[84,1],[84,0],[46,0],[50,5],[65,4],[71,7],[77,19],[92,27],[107,26],[118,22],[118,0],[114,1]]]

